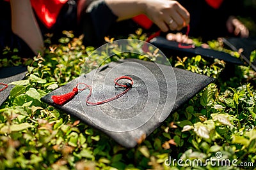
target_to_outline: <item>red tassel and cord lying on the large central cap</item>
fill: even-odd
[[[122,85],[122,84],[118,83],[118,81],[121,79],[130,80],[131,83],[125,83],[125,85]],[[132,88],[132,85],[133,85],[133,80],[129,76],[120,76],[118,78],[115,78],[114,82],[115,82],[115,85],[118,85],[119,87],[124,87],[125,90],[123,92],[121,92],[120,94],[117,94],[116,96],[106,99],[104,101],[98,101],[96,103],[90,102],[89,100],[90,100],[90,97],[92,96],[92,86],[87,85],[86,83],[77,83],[76,87],[72,90],[72,92],[68,92],[67,94],[63,94],[60,96],[52,96],[52,101],[55,104],[63,105],[65,103],[67,103],[68,101],[70,101],[70,99],[72,99],[76,94],[78,94],[78,92],[81,92],[85,89],[89,89],[90,92],[89,92],[88,96],[86,97],[85,101],[87,104],[95,106],[95,105],[100,105],[103,103],[108,103],[109,101],[113,101],[113,100],[117,99],[118,97],[123,96],[125,93],[127,93]],[[84,88],[78,89],[79,85],[84,85]]]

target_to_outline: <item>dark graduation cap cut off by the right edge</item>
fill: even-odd
[[[223,42],[234,51],[243,48],[241,57],[256,71],[256,59],[250,62],[250,55],[253,50],[256,50],[255,38],[223,38]]]

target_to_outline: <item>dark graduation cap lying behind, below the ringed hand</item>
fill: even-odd
[[[244,62],[242,60],[237,59],[236,57],[233,57],[228,53],[202,48],[200,46],[196,48],[179,48],[179,43],[177,43],[176,41],[169,41],[161,36],[152,39],[150,43],[152,43],[152,45],[156,46],[162,51],[172,50],[172,52],[177,51],[179,53],[182,53],[183,55],[202,55],[204,57],[209,57],[212,59],[220,59],[224,60],[225,62],[244,65]]]

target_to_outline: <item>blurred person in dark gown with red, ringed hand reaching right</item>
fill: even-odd
[[[84,34],[86,45],[100,45],[115,24],[147,15],[161,31],[180,30],[189,24],[188,11],[170,0],[1,0],[0,49],[18,48],[24,55],[44,50],[44,34]],[[129,29],[129,25],[116,28]],[[113,30],[113,31],[116,31]]]

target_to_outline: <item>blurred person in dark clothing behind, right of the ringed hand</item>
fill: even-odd
[[[225,36],[247,38],[249,31],[235,16],[243,13],[243,1],[239,0],[179,0],[191,15],[189,36],[208,41]],[[167,34],[168,40],[191,43],[181,33]]]

